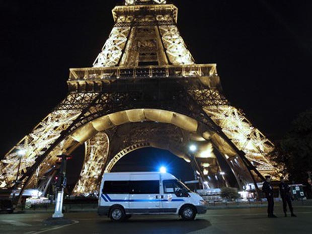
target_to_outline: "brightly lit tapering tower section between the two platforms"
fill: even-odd
[[[150,2],[152,1],[148,3]],[[147,1],[126,1],[126,5],[138,3],[147,3]],[[165,4],[166,1],[159,0],[153,3]],[[140,15],[134,11],[135,17],[127,15],[132,10],[130,8],[123,6],[123,11],[117,9],[113,11],[115,26],[94,62],[94,67],[111,67],[118,64],[137,66],[139,62],[149,61],[168,64],[166,59],[174,65],[194,64],[193,56],[175,25],[177,15],[175,8],[169,8],[169,14],[164,14],[162,9],[154,9],[155,12],[151,15],[144,11]],[[137,11],[142,10],[137,9]]]

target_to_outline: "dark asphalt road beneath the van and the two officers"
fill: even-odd
[[[274,233],[299,234],[312,230],[312,206],[295,207],[298,217],[284,217],[280,206],[276,207],[279,218],[267,218],[266,208],[208,210],[197,215],[194,221],[182,221],[177,216],[146,215],[133,216],[127,222],[115,223],[108,218],[99,217],[95,212],[66,213],[75,220],[74,224],[46,226],[42,220],[50,214],[1,214],[0,233],[66,233],[66,234],[244,234]]]

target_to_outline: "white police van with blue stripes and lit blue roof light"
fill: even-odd
[[[106,173],[99,193],[99,215],[122,221],[132,214],[178,214],[193,220],[206,213],[204,199],[169,173]]]

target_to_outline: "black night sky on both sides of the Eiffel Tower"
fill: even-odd
[[[68,68],[92,66],[120,1],[0,0],[0,155],[66,96]],[[276,141],[310,108],[312,1],[183,0],[178,27],[197,63],[217,63],[226,97]]]

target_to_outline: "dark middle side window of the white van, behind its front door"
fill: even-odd
[[[130,181],[131,194],[159,194],[159,181]]]

